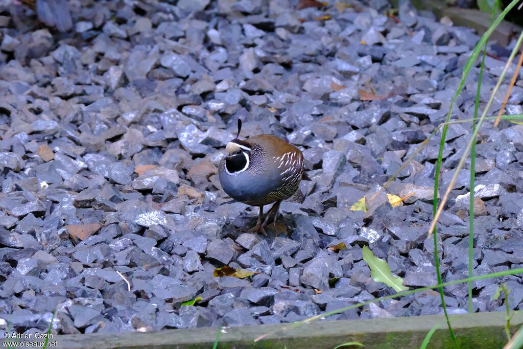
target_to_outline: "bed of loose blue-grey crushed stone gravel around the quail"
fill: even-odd
[[[54,309],[64,334],[300,320],[394,293],[370,278],[365,245],[404,285],[436,283],[427,229],[439,133],[386,189],[415,192],[403,206],[382,193],[366,213],[349,208],[444,120],[473,30],[407,2],[387,17],[384,0],[70,4],[70,33],[19,4],[0,21],[0,328],[42,332]],[[482,105],[509,51],[488,53]],[[472,117],[478,71],[454,119]],[[508,114],[523,114],[522,102],[520,78]],[[257,208],[220,188],[238,118],[243,137],[272,133],[300,147],[312,178],[268,237],[244,233]],[[444,189],[468,128],[449,129]],[[523,125],[486,122],[479,139],[475,275],[523,266]],[[465,169],[439,224],[445,281],[467,276],[468,193]],[[329,249],[341,242],[346,250]],[[224,265],[257,274],[213,277]],[[510,308],[523,307],[521,278],[508,276],[474,283],[475,310],[504,309],[492,299],[502,281]],[[467,285],[445,298],[465,312]],[[328,320],[441,311],[428,291]]]

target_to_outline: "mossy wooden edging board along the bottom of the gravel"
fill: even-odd
[[[501,348],[507,342],[504,312],[458,314],[451,316],[452,328],[462,348]],[[243,326],[224,330],[219,348],[332,349],[350,341],[368,348],[419,347],[431,328],[439,324],[431,348],[452,347],[445,318],[439,315],[392,319],[316,321],[293,328],[290,324]],[[523,324],[523,313],[511,319],[515,332]],[[287,327],[288,329],[285,329]],[[158,332],[94,333],[55,335],[55,347],[62,349],[138,349],[138,348],[211,348],[217,328],[163,330]],[[269,335],[259,341],[262,334]]]

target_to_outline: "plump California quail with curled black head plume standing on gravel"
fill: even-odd
[[[251,232],[265,233],[264,226],[271,216],[274,225],[282,200],[288,199],[304,176],[303,154],[294,145],[271,134],[260,134],[240,140],[242,121],[238,119],[238,134],[225,147],[218,175],[226,194],[244,204],[259,206],[256,227]],[[265,219],[263,207],[275,202]]]

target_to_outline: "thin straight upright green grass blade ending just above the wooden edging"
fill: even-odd
[[[499,8],[499,2],[496,0],[492,6],[492,15],[490,24],[496,15],[496,9]],[[487,44],[488,38],[485,40],[485,46],[483,47],[483,57],[481,58],[480,73],[477,76],[477,89],[476,89],[476,99],[474,100],[474,119],[477,119],[477,115],[480,109],[480,94],[481,94],[481,83],[483,81],[483,70],[485,68],[485,57],[487,53]],[[476,121],[472,122],[472,132],[476,128]],[[469,196],[469,277],[473,275],[474,268],[474,188],[476,181],[476,138],[472,142],[472,148],[470,149],[470,196]],[[472,282],[469,282],[469,300],[468,308],[469,312],[472,312]]]

